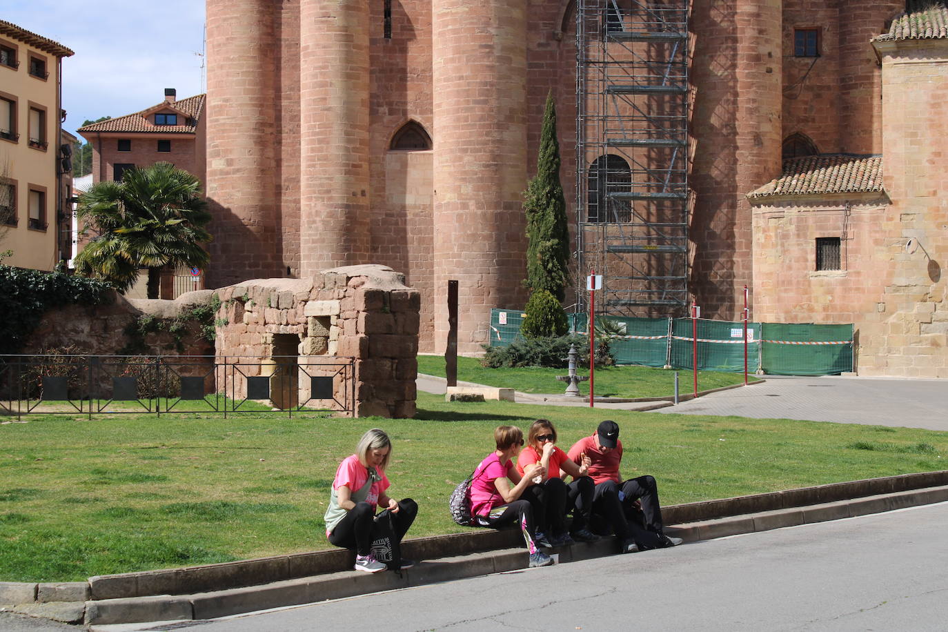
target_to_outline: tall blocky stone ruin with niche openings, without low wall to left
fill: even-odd
[[[312,279],[247,280],[216,290],[218,363],[236,360],[240,378],[219,375],[218,385],[230,397],[257,399],[252,391],[263,382],[279,407],[311,398],[322,407],[354,393],[357,417],[413,417],[421,298],[404,281],[392,268],[352,265]],[[340,371],[348,358],[354,381]]]

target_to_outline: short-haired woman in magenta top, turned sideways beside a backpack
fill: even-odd
[[[527,465],[523,476],[513,458],[523,447],[523,431],[513,425],[494,430],[497,449],[474,470],[470,486],[472,524],[501,529],[517,524],[530,552],[530,567],[545,567],[553,560],[537,549],[535,517],[543,515],[542,488],[531,479],[546,473],[539,463]]]

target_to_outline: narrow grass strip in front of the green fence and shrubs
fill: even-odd
[[[418,372],[445,377],[445,358],[441,355],[419,355]],[[576,369],[579,375],[589,375],[589,367]],[[566,375],[565,369],[520,367],[517,369],[486,369],[478,358],[458,358],[458,379],[488,387],[514,388],[524,393],[561,393],[565,382],[556,380]],[[675,371],[651,367],[623,366],[597,367],[594,374],[595,394],[602,397],[671,397],[675,394]],[[690,370],[679,370],[682,393],[694,388]],[[753,376],[751,379],[755,379]],[[743,373],[698,371],[698,389],[720,388],[740,384]],[[579,385],[579,391],[589,394],[589,382]]]

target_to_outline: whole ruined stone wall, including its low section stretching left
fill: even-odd
[[[221,302],[214,343],[199,335],[194,322],[178,336],[168,331],[175,318],[187,316],[196,305],[209,304],[215,294]],[[126,328],[142,316],[152,316],[161,328],[140,336],[135,354],[188,363],[178,372],[208,375],[208,392],[240,399],[247,394],[246,380],[231,380],[221,369],[215,374],[210,356],[218,361],[246,356],[237,361],[242,363],[239,373],[249,377],[275,375],[282,362],[275,355],[296,356],[298,388],[271,386],[272,403],[310,406],[309,376],[336,374],[340,365],[335,356],[340,356],[345,363],[352,358],[355,375],[348,382],[334,379],[338,402],[346,401],[348,390],[349,399],[355,394],[358,417],[410,418],[415,413],[420,302],[420,294],[404,284],[403,275],[381,265],[335,268],[305,280],[248,280],[175,300],[117,295],[108,305],[73,305],[47,312],[21,352],[68,348],[82,355],[120,355],[133,342]],[[206,357],[179,359],[183,355]],[[312,406],[339,407],[324,401]]]

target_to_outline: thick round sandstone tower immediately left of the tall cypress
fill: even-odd
[[[458,351],[477,352],[490,309],[523,301],[526,7],[435,0],[432,30],[435,348],[444,348],[447,280],[456,279]]]

